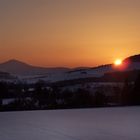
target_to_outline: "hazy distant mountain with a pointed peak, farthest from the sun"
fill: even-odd
[[[67,68],[44,68],[26,64],[19,60],[9,60],[0,64],[0,71],[15,75],[41,75],[48,73],[61,73],[68,71]]]

